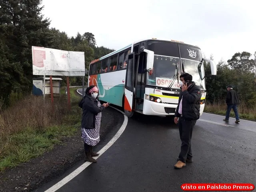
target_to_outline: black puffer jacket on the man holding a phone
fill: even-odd
[[[183,98],[182,98],[183,96]],[[201,102],[202,92],[195,82],[192,82],[188,90],[181,91],[178,106],[174,114],[175,117],[180,117],[179,106],[180,100],[182,98],[182,116],[186,120],[198,120],[200,118],[200,102]]]

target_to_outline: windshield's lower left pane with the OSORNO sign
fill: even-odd
[[[180,59],[170,56],[154,56],[153,70],[148,74],[148,84],[160,87],[179,88]],[[174,81],[174,82],[173,82]]]

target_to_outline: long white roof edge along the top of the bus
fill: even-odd
[[[188,45],[188,46],[194,46],[194,47],[199,48],[199,47],[196,46],[196,45],[186,44],[186,43],[184,43],[184,42],[182,42],[182,41],[166,40],[166,39],[164,40],[164,39],[157,39],[157,38],[147,38],[147,39],[136,40],[136,41],[134,41],[132,44],[136,44],[136,43],[139,43],[139,42],[142,42],[142,41],[147,41],[147,40],[158,40],[158,41],[177,42],[177,43],[180,43],[180,44],[184,44],[184,45]],[[105,55],[105,56],[103,56],[103,57],[101,57],[101,58],[92,60],[92,62],[90,62],[90,64],[93,64],[93,63],[95,63],[95,62],[97,62],[97,61],[103,60],[104,58],[107,58],[107,57],[109,57],[109,56],[112,56],[112,55],[114,55],[114,54],[116,54],[116,53],[118,53],[118,52],[121,52],[122,50],[126,50],[127,48],[132,47],[132,44],[130,44],[130,45],[128,45],[128,46],[125,46],[125,47],[123,47],[123,48],[121,48],[121,49],[119,49],[119,50],[113,51],[113,52],[111,52],[111,53],[109,53],[109,54],[107,54],[107,55]],[[200,48],[199,48],[199,49],[200,49]]]

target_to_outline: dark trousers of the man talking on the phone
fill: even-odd
[[[186,159],[192,158],[192,150],[191,150],[191,138],[193,128],[196,124],[196,120],[188,121],[183,117],[180,117],[178,126],[180,131],[180,140],[181,140],[181,149],[179,160],[186,163]]]

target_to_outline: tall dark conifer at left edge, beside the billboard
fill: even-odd
[[[0,92],[5,99],[12,90],[31,90],[31,46],[49,45],[50,22],[40,14],[40,4],[41,0],[0,1],[0,68],[5,82]]]

